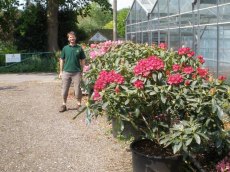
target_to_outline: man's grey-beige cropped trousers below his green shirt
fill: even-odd
[[[82,92],[81,92],[81,72],[63,72],[62,74],[62,96],[64,99],[67,99],[69,88],[71,83],[74,84],[74,92],[75,97],[78,100],[81,100],[82,98]]]

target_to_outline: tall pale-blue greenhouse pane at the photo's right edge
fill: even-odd
[[[219,66],[218,74],[230,81],[230,24],[219,26]]]

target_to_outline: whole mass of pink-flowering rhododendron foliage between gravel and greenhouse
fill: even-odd
[[[229,115],[230,88],[225,76],[209,72],[201,55],[188,47],[168,50],[165,44],[110,42],[99,53],[96,47],[86,73],[93,91],[88,120],[106,114],[129,121],[143,137],[171,146],[174,153],[229,149],[222,119]],[[199,126],[197,133],[190,124]],[[178,126],[185,130],[183,138],[167,140],[164,136],[178,132],[173,129]]]

